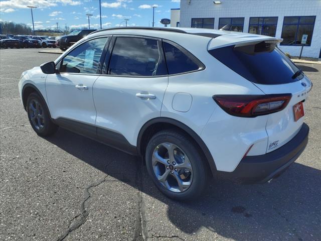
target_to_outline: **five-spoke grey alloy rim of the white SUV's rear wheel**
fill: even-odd
[[[182,149],[172,143],[162,143],[155,147],[152,168],[158,181],[172,192],[184,192],[192,184],[191,162]]]

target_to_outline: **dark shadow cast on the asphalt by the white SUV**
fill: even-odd
[[[136,157],[62,128],[46,140],[165,203],[169,220],[185,233],[193,235],[207,229],[211,235],[213,232],[237,240],[321,237],[320,170],[294,163],[281,177],[262,185],[240,185],[213,178],[199,200],[181,203],[165,197],[151,184],[145,167]],[[141,174],[139,181],[137,173]]]

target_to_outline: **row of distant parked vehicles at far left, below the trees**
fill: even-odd
[[[0,35],[1,48],[56,48],[56,37],[29,35]]]

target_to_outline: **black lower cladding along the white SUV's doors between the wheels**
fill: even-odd
[[[132,146],[123,135],[117,132],[73,121],[72,119],[58,118],[53,121],[64,129],[116,148],[125,153],[137,155],[137,148]]]

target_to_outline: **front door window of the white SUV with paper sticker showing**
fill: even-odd
[[[96,74],[107,38],[90,40],[68,53],[60,64],[62,73]]]

